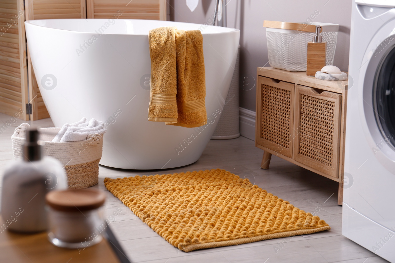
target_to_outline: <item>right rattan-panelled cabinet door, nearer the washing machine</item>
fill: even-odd
[[[294,159],[339,177],[342,95],[297,85],[295,96]]]

